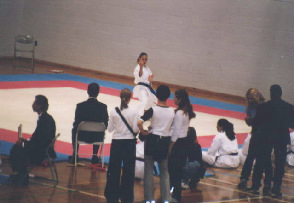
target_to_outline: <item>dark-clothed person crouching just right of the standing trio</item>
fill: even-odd
[[[182,189],[196,189],[200,178],[203,178],[202,151],[198,143],[195,128],[189,127],[188,134],[188,159],[183,169]]]

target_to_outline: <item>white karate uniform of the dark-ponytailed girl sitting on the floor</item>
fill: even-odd
[[[208,151],[202,152],[202,160],[215,167],[236,168],[240,163],[239,156],[230,155],[232,153],[238,153],[237,139],[229,140],[225,132],[220,132],[214,137]]]

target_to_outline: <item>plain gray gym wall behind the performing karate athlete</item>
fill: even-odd
[[[132,76],[141,51],[155,80],[294,103],[294,0],[0,0],[0,56],[32,34],[36,58]]]

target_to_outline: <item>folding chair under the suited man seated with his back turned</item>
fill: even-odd
[[[104,167],[104,135],[106,127],[103,122],[82,121],[77,128],[74,166],[77,166],[78,144],[102,145],[100,156],[102,156],[102,168]],[[102,152],[102,155],[101,155]],[[93,154],[91,154],[93,155]],[[81,165],[81,164],[79,164]]]

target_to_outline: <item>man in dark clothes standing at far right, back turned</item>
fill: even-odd
[[[271,100],[257,107],[253,123],[260,126],[258,140],[261,145],[257,150],[256,164],[253,171],[252,191],[259,193],[259,184],[264,170],[271,162],[271,152],[274,149],[275,170],[273,187],[271,182],[265,184],[264,195],[281,197],[282,179],[285,173],[287,144],[290,143],[289,127],[294,126],[293,106],[282,100],[282,88],[272,85]]]

